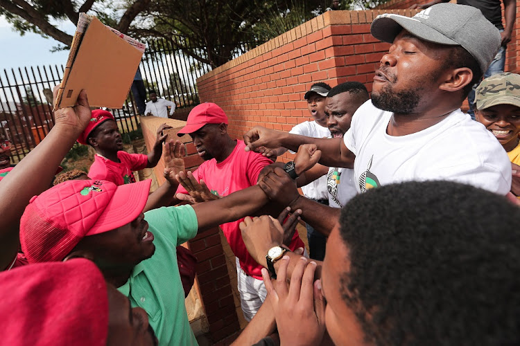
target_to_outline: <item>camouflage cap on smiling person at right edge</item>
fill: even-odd
[[[476,109],[485,109],[496,104],[520,107],[520,75],[499,73],[480,82],[475,93]]]

